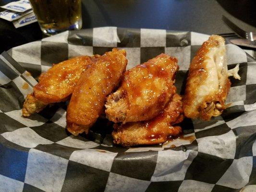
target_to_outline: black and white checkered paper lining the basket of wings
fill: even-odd
[[[66,103],[22,117],[24,97],[52,63],[103,54],[113,47],[126,50],[127,69],[164,52],[177,57],[176,86],[183,94],[189,63],[208,37],[101,27],[64,32],[2,53],[0,192],[239,192],[245,186],[244,192],[255,190],[256,61],[232,44],[226,46],[228,68],[240,63],[242,79],[231,78],[231,107],[210,121],[185,119],[184,137],[192,139],[113,146],[106,120],[98,120],[88,135],[75,137],[65,130]]]

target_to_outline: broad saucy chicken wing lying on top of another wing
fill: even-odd
[[[107,98],[107,118],[125,123],[157,116],[175,93],[178,69],[176,58],[160,54],[126,71],[119,89]]]

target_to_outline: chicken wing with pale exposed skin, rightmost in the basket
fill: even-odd
[[[230,85],[225,40],[221,36],[210,36],[189,67],[183,98],[184,115],[203,120],[219,116],[225,109]]]

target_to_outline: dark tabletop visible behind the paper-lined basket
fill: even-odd
[[[0,5],[11,1],[0,0]],[[118,26],[232,33],[221,20],[223,14],[244,30],[256,31],[254,0],[82,0],[82,14],[84,29]],[[0,52],[43,37],[37,23],[15,29],[12,22],[0,19]]]

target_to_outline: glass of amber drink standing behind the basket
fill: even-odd
[[[30,0],[30,3],[46,35],[82,28],[81,0]]]

